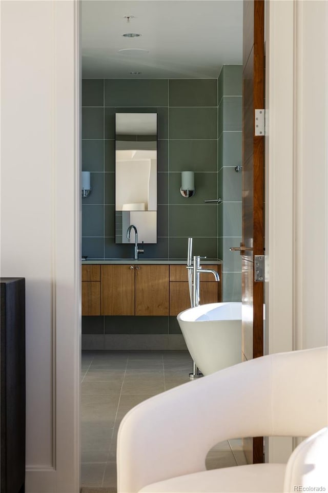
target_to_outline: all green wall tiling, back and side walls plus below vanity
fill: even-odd
[[[241,67],[223,66],[216,79],[82,81],[82,168],[92,193],[83,199],[82,254],[132,258],[115,244],[115,112],[158,113],[158,241],[145,258],[223,258],[223,297],[240,299],[239,257],[228,257],[241,235]],[[181,171],[195,172],[196,194],[180,195]],[[223,204],[204,199],[223,197]],[[236,236],[235,236],[236,235]],[[232,255],[232,254],[231,254]],[[227,267],[224,265],[224,259]],[[227,289],[224,290],[225,279]],[[176,317],[83,317],[83,334],[180,334]]]

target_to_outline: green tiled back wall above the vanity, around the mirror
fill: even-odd
[[[82,168],[92,193],[83,199],[82,254],[130,258],[133,245],[115,244],[115,112],[158,113],[158,242],[145,258],[185,258],[188,236],[200,255],[217,258],[218,91],[216,79],[82,81]],[[233,115],[238,111],[232,105]],[[196,194],[180,194],[181,171],[195,172]],[[196,254],[196,252],[194,252]]]

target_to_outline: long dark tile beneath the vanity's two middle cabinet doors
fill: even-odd
[[[105,317],[105,334],[167,334],[168,317]]]

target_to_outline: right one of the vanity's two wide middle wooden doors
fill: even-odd
[[[136,267],[135,314],[169,315],[169,266]]]

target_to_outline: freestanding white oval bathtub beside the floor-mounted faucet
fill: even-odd
[[[189,308],[180,312],[177,320],[204,375],[241,362],[241,302]]]

